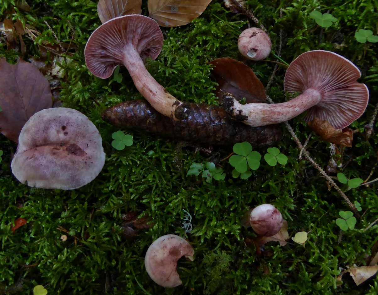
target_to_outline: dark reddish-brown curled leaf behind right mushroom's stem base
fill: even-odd
[[[235,99],[246,98],[246,103],[261,102],[266,99],[265,88],[249,66],[229,57],[215,59],[212,74],[219,86],[215,95],[222,102],[223,93],[231,93]]]

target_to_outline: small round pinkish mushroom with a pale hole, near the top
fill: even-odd
[[[245,29],[237,40],[240,53],[251,60],[265,59],[271,49],[272,42],[266,32],[259,28]]]

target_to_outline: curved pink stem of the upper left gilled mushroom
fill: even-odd
[[[150,105],[159,113],[178,121],[175,110],[182,102],[172,96],[151,76],[132,44],[124,48],[123,64],[129,71],[136,89]]]

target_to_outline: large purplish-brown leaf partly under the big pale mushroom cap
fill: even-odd
[[[15,65],[0,59],[0,132],[14,142],[26,121],[53,105],[50,84],[38,68],[19,60]]]

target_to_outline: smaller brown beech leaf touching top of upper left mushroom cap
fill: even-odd
[[[142,14],[142,0],[100,0],[97,13],[102,23],[127,14]]]

